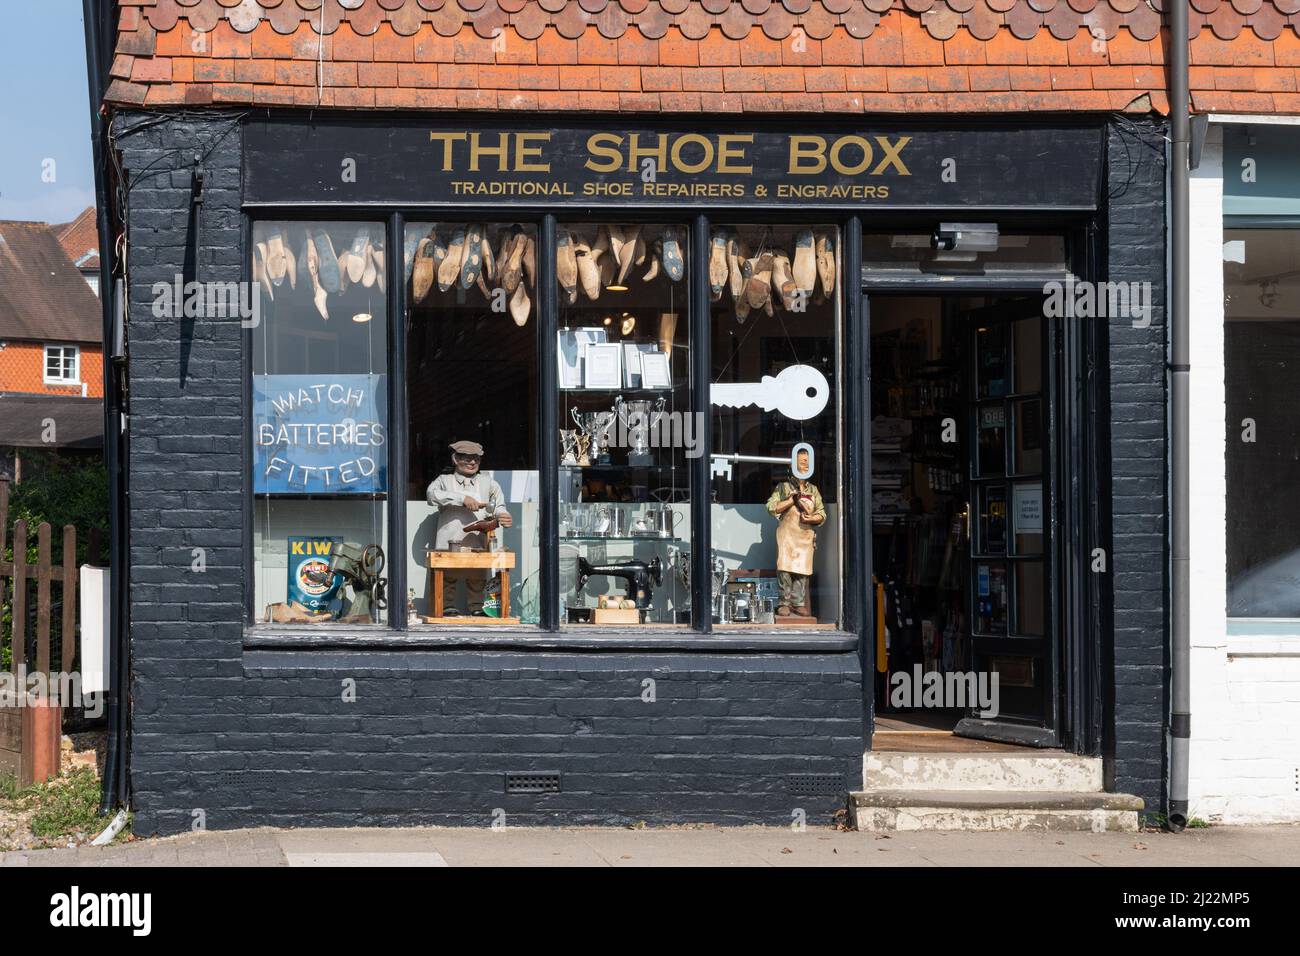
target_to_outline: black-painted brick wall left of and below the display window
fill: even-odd
[[[861,783],[857,654],[250,652],[242,646],[240,329],[153,315],[205,153],[203,281],[240,278],[239,130],[125,134],[130,191],[131,787],[136,832],[254,825],[828,821]],[[286,144],[291,148],[291,144]],[[207,571],[195,572],[192,549]],[[642,701],[645,679],[656,701]],[[356,700],[343,700],[344,680]],[[506,771],[563,792],[503,793]]]

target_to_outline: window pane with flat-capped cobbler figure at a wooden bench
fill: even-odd
[[[536,624],[536,229],[412,222],[403,263],[411,617]]]

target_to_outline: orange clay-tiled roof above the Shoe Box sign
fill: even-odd
[[[122,0],[109,100],[1164,111],[1165,3]],[[1300,112],[1300,0],[1193,0],[1191,31],[1197,109]]]

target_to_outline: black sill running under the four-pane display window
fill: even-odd
[[[767,654],[840,654],[858,649],[858,636],[848,631],[763,632],[715,631],[702,635],[685,628],[658,633],[629,633],[614,628],[584,628],[581,632],[545,632],[533,627],[502,627],[490,632],[474,626],[433,627],[417,624],[406,632],[386,627],[286,627],[254,624],[244,628],[246,650],[662,650]]]

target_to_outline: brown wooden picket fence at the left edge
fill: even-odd
[[[14,522],[9,537],[9,481],[0,479],[0,680],[17,695],[26,695],[34,675],[46,675],[47,685],[56,688],[57,675],[72,674],[77,665],[77,529],[64,525],[57,564],[49,524],[42,522],[35,532],[36,563],[29,564],[30,529],[26,522]],[[91,529],[90,559],[98,557],[98,529]],[[10,546],[12,561],[6,559]],[[0,774],[17,777],[20,786],[56,777],[61,739],[58,701],[0,706]]]

